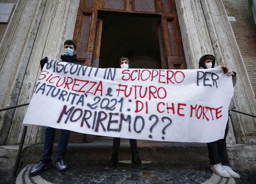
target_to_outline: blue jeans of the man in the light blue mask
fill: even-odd
[[[54,136],[55,136],[55,128],[52,127],[45,127],[44,130],[44,150],[42,157],[45,159],[51,159],[52,156],[52,148],[54,143]],[[65,157],[67,152],[68,146],[68,139],[70,135],[70,130],[63,130],[61,129],[59,144],[58,144],[58,156]]]

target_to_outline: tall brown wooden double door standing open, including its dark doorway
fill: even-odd
[[[131,68],[187,69],[174,0],[81,0],[73,41],[90,67],[119,67],[128,57]],[[69,143],[94,137],[71,132]]]

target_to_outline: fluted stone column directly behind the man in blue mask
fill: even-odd
[[[41,73],[39,61],[44,57],[60,59],[64,54],[63,43],[73,39],[79,1],[48,0],[29,58],[28,67],[20,90],[18,104],[29,102]],[[22,120],[27,107],[17,108],[7,144],[17,144],[21,138]],[[47,116],[47,114],[45,114]],[[23,127],[22,127],[23,128]],[[43,143],[44,127],[28,127],[25,144]]]

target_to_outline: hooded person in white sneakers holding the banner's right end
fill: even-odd
[[[204,55],[199,60],[199,69],[208,69],[214,68],[215,65],[215,57],[212,55]],[[217,66],[218,68],[222,68],[224,73],[227,73],[228,76],[232,76],[233,85],[236,82],[236,72],[228,72],[228,69],[223,66]],[[229,116],[230,114],[228,114]],[[209,142],[207,143],[208,153],[209,153],[209,160],[211,165],[211,170],[218,174],[219,176],[225,178],[240,178],[239,174],[234,172],[227,159],[226,151],[227,151],[227,144],[226,138],[228,134],[228,122],[226,124],[224,138],[218,141]]]

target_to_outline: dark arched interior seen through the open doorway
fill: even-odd
[[[99,67],[119,67],[127,57],[131,68],[161,68],[157,23],[160,18],[99,14],[103,18]]]

